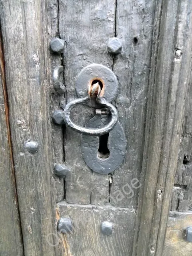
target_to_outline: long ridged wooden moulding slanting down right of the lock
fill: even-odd
[[[138,256],[162,255],[190,77],[191,11],[187,0],[157,3],[135,237]]]

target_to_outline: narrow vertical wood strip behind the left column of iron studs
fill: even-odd
[[[50,0],[47,2],[48,10],[47,12],[47,37],[50,42],[51,38],[59,37],[58,23],[59,23],[59,13],[58,13],[58,1]],[[46,45],[46,47],[49,46]],[[49,69],[50,72],[48,81],[50,83],[50,102],[48,103],[48,115],[52,114],[54,110],[63,109],[64,95],[58,95],[52,86],[52,74],[56,66],[62,65],[62,56],[54,52],[50,52],[47,56],[49,58]],[[61,103],[62,102],[62,103]],[[52,150],[54,154],[54,163],[63,163],[64,162],[64,148],[63,148],[63,127],[53,124],[51,125],[51,136],[52,136]],[[54,178],[54,198],[55,202],[60,202],[65,196],[64,191],[64,179],[58,178],[53,174]]]

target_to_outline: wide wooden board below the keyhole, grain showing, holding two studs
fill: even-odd
[[[83,215],[82,215],[83,213]],[[128,208],[58,203],[60,217],[72,219],[72,234],[63,235],[68,255],[130,256],[136,215]],[[113,223],[112,234],[101,232],[103,221]]]

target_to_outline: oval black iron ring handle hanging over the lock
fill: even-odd
[[[72,122],[72,120],[70,119],[70,112],[71,112],[72,108],[74,108],[78,105],[81,105],[81,104],[83,104],[83,105],[87,104],[89,101],[90,101],[90,96],[88,95],[85,98],[76,99],[76,100],[69,102],[66,105],[66,107],[64,109],[64,114],[63,114],[65,124],[70,126],[70,128],[72,128],[76,132],[79,132],[81,134],[96,136],[96,135],[103,135],[103,134],[110,132],[114,128],[114,126],[116,125],[116,123],[118,121],[118,112],[112,104],[110,104],[105,99],[101,98],[100,96],[98,96],[96,98],[96,102],[98,102],[100,105],[104,106],[105,108],[108,108],[108,110],[110,110],[111,115],[112,115],[110,122],[106,126],[104,126],[103,128],[91,129],[91,128],[85,128],[82,126],[78,126],[77,124],[74,124]]]

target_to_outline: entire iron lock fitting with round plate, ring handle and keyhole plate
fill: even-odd
[[[59,87],[59,86],[58,86]],[[118,81],[112,70],[91,64],[84,68],[76,79],[76,92],[79,99],[68,102],[63,118],[66,125],[82,134],[82,155],[86,164],[94,172],[108,174],[122,163],[126,150],[126,137],[118,122],[118,112],[110,102],[115,99]],[[78,126],[70,118],[72,108],[87,104],[95,108],[105,108],[109,114],[98,114],[91,118],[86,127]],[[106,147],[110,151],[106,157],[99,154],[98,148],[104,134],[108,134]]]

